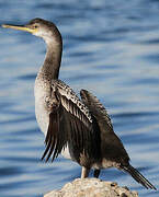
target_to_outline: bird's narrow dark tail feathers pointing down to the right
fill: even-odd
[[[132,165],[128,166],[122,166],[122,169],[130,174],[130,176],[138,183],[140,183],[143,186],[145,186],[147,189],[155,189],[157,188],[148,181],[136,169],[134,169]]]

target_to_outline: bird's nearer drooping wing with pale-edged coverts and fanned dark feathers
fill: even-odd
[[[45,139],[46,161],[58,157],[61,150],[70,144],[71,152],[77,162],[84,154],[90,159],[100,157],[96,125],[89,113],[88,107],[79,100],[75,92],[61,81],[54,80],[49,107],[49,126]],[[52,102],[55,101],[56,102]],[[52,104],[53,103],[53,104]]]

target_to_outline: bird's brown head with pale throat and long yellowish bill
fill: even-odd
[[[59,43],[61,40],[61,35],[56,25],[43,19],[33,19],[26,25],[3,24],[2,27],[29,32],[42,37],[46,43]]]

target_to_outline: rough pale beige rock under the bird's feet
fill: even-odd
[[[98,178],[77,178],[67,183],[60,190],[53,190],[44,197],[138,197],[138,194],[127,187],[120,187],[116,183]]]

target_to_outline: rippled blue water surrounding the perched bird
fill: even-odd
[[[60,79],[88,89],[105,105],[137,167],[159,187],[159,2],[156,0],[0,1],[0,23],[54,21],[64,37]],[[44,136],[34,115],[33,86],[44,43],[0,28],[0,196],[43,196],[80,176],[58,158],[43,163]],[[102,179],[157,197],[130,176],[105,170]]]

